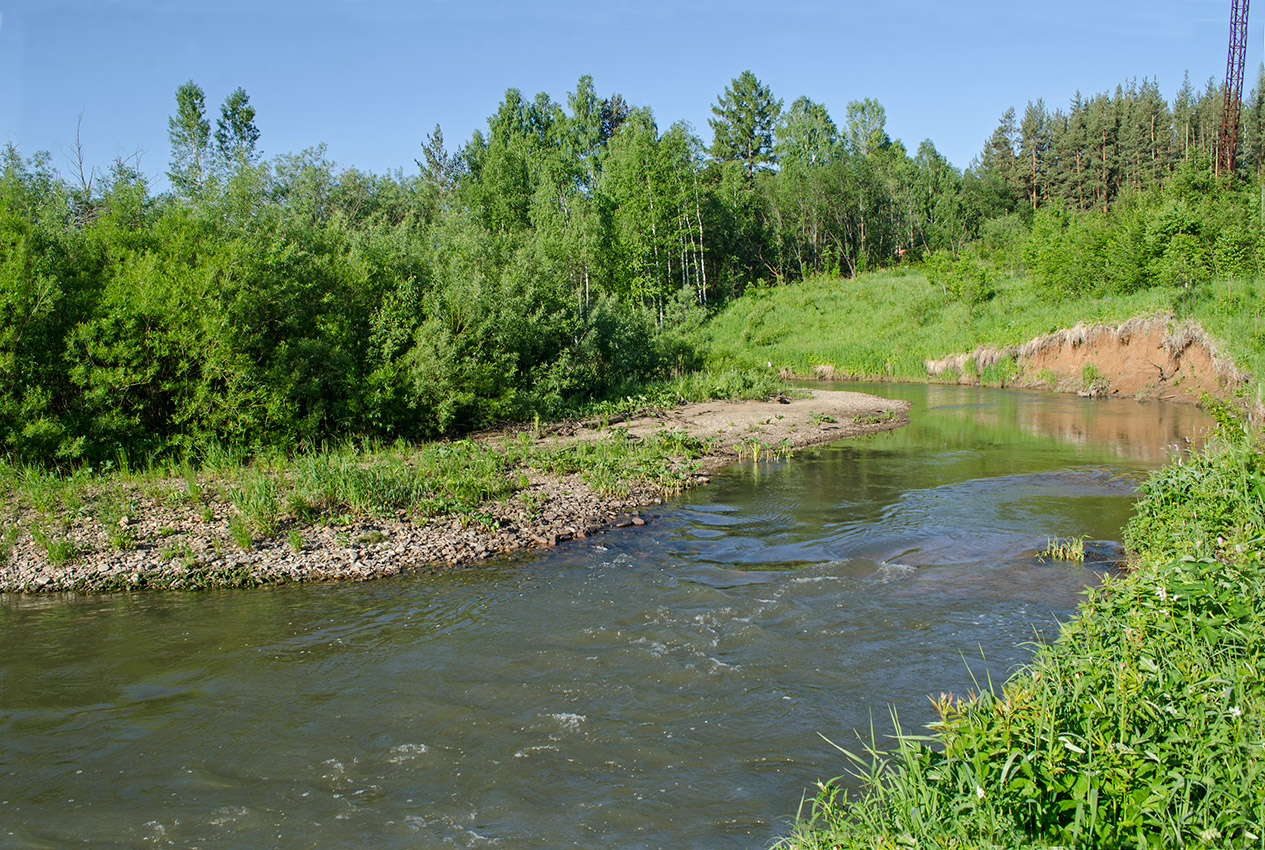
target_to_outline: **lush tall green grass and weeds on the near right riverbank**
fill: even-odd
[[[1152,476],[1135,568],[931,735],[853,754],[784,846],[1261,846],[1262,472],[1238,426]]]

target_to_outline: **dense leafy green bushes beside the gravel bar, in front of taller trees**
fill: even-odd
[[[409,439],[553,415],[689,366],[686,316],[577,292],[533,234],[319,151],[196,200],[119,172],[76,210],[0,167],[0,452],[75,464]],[[688,310],[686,311],[688,312]],[[662,342],[660,342],[662,340]]]

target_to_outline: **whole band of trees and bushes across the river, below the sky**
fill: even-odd
[[[1260,225],[1207,176],[1213,101],[1144,82],[1037,102],[960,172],[930,140],[911,156],[873,100],[836,124],[746,71],[705,144],[582,77],[564,102],[511,89],[486,133],[450,151],[436,126],[415,171],[372,175],[321,148],[263,159],[247,94],[213,130],[188,82],[166,192],[133,162],[65,180],[4,152],[0,452],[97,463],[553,416],[691,368],[689,329],[751,285],[896,262],[972,300],[1002,269],[1049,297],[1246,273]],[[1250,101],[1242,176],[1265,144]]]

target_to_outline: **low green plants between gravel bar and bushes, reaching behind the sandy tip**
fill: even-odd
[[[77,529],[78,536],[104,534],[106,550],[143,548],[159,553],[157,560],[164,563],[172,559],[162,553],[171,549],[166,539],[175,529],[145,520],[163,507],[192,510],[205,524],[229,517],[228,535],[219,540],[223,551],[250,549],[282,533],[301,535],[318,525],[383,517],[493,522],[493,503],[530,491],[539,474],[576,474],[612,498],[634,490],[676,493],[694,483],[707,444],[669,431],[631,439],[620,422],[688,401],[764,398],[781,390],[781,381],[767,374],[700,371],[617,402],[589,405],[583,421],[536,421],[477,440],[366,439],[296,452],[213,443],[178,459],[133,463],[120,453],[96,469],[71,471],[0,460],[0,507],[8,517],[0,555],[8,559],[24,529],[51,563],[73,560],[85,554],[72,533]],[[593,439],[549,443],[560,429],[587,430]]]

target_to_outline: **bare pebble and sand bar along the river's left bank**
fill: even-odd
[[[560,422],[530,431],[541,444],[596,440],[612,429],[634,439],[664,430],[706,440],[693,460],[692,483],[769,447],[799,449],[903,425],[908,402],[856,392],[816,390],[805,397],[713,401],[657,411],[627,421]],[[496,445],[522,439],[521,429],[482,434]],[[756,448],[758,447],[758,448]],[[9,517],[14,529],[0,564],[0,592],[101,592],[142,588],[247,587],[282,582],[364,581],[411,570],[471,564],[520,549],[558,545],[611,527],[644,525],[645,506],[662,503],[660,488],[634,483],[620,497],[597,492],[579,474],[514,472],[521,486],[507,498],[481,506],[479,521],[457,516],[416,520],[395,516],[350,521],[287,521],[250,546],[233,543],[231,502],[206,496],[181,498],[187,482],[149,483],[132,497],[134,508],[109,525],[91,511],[66,516],[65,539],[73,557],[54,563],[35,540],[34,511]],[[216,488],[204,488],[215,493]],[[223,491],[220,491],[223,492]],[[119,540],[126,545],[120,546]]]

